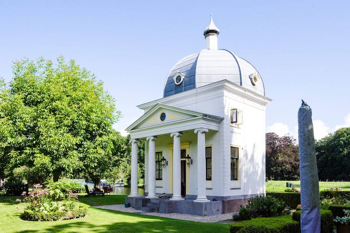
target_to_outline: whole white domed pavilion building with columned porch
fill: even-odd
[[[219,32],[210,18],[206,49],[177,62],[164,97],[139,105],[143,116],[126,129],[132,143],[126,201],[136,209],[210,216],[265,195],[265,106],[271,99],[249,62],[218,49]],[[146,141],[145,196],[137,192],[138,140]]]

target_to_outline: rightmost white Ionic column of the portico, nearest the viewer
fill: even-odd
[[[197,133],[197,199],[194,202],[208,202],[206,196],[205,134],[208,129],[195,129]]]

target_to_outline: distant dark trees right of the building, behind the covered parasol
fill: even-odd
[[[266,133],[266,178],[297,180],[299,151],[291,135]],[[318,178],[350,180],[350,128],[342,128],[315,142]]]

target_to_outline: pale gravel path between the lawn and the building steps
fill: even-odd
[[[145,212],[145,211],[141,211],[141,210],[136,210],[133,207],[125,208],[124,204],[100,205],[100,206],[95,206],[95,207],[101,208],[101,209],[107,209],[107,210],[116,210],[116,211],[122,211],[122,212],[128,212],[128,213],[136,213],[136,214],[140,214],[140,215],[152,215],[152,216],[175,218],[175,219],[188,220],[188,221],[193,221],[193,222],[219,222],[219,221],[224,221],[227,219],[232,219],[232,213],[222,214],[222,215],[214,215],[214,216],[197,216],[197,215],[186,215],[186,214],[178,214],[178,213],[161,214],[161,213]]]

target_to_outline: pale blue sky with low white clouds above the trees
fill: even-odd
[[[297,138],[297,111],[313,109],[315,137],[350,127],[348,0],[0,0],[0,77],[12,62],[63,55],[102,80],[123,130],[136,106],[163,97],[169,70],[205,48],[210,21],[219,49],[256,67],[273,101],[266,131]]]

